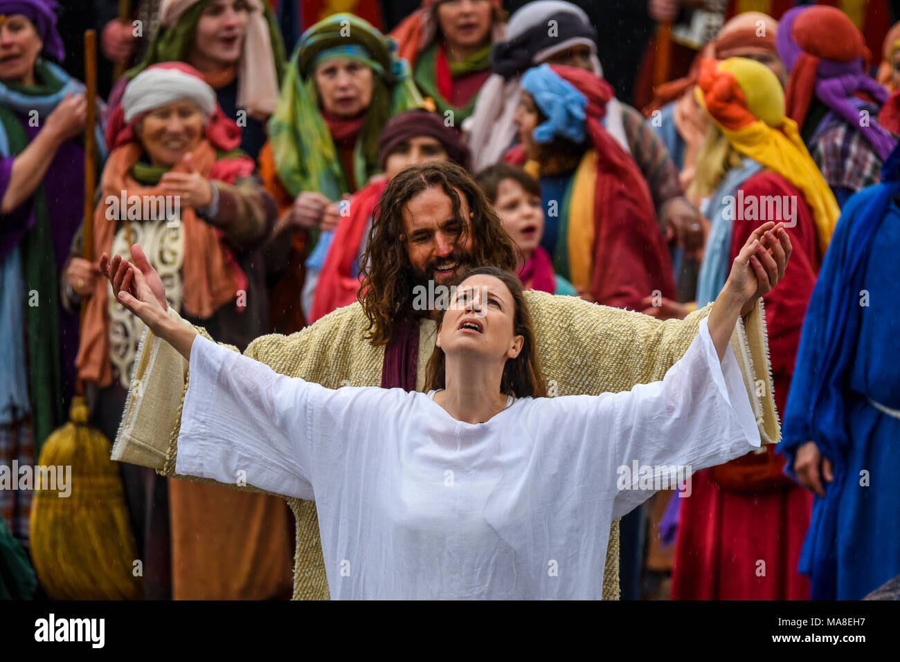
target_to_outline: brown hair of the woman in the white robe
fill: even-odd
[[[507,359],[503,366],[503,378],[500,380],[500,392],[516,398],[545,398],[547,389],[544,377],[541,375],[540,361],[537,357],[537,345],[535,332],[531,326],[531,315],[528,313],[528,305],[525,294],[522,291],[522,282],[518,276],[509,269],[498,269],[495,266],[478,266],[468,269],[463,275],[453,282],[459,286],[471,276],[493,276],[503,282],[512,294],[516,312],[513,316],[513,333],[523,338],[522,350],[515,359]],[[440,312],[437,322],[444,321],[446,310]],[[446,356],[444,350],[435,345],[431,358],[428,359],[426,372],[426,389],[446,388]]]

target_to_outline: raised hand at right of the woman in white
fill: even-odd
[[[742,302],[742,315],[784,278],[792,250],[784,223],[769,221],[753,230],[734,258],[724,288]]]

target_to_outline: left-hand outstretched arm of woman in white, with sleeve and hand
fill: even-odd
[[[132,255],[143,259],[139,246],[132,246]],[[326,389],[278,374],[179,324],[137,265],[104,254],[101,267],[121,304],[190,365],[175,472],[311,499],[308,413]]]

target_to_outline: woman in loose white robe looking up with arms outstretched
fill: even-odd
[[[515,273],[464,276],[425,394],[280,375],[178,324],[120,256],[101,266],[190,363],[176,472],[314,499],[332,598],[599,599],[613,519],[760,445],[729,340],[790,250],[781,225],[752,234],[663,380],[560,398],[540,397]]]

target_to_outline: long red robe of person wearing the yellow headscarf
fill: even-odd
[[[783,412],[806,306],[822,258],[812,213],[797,188],[770,171],[752,175],[740,188],[744,199],[797,196],[797,226],[788,228],[794,250],[784,281],[763,297],[775,404]],[[732,259],[761,223],[734,220]],[[809,579],[797,572],[797,559],[812,505],[812,493],[799,485],[742,494],[720,488],[711,469],[698,471],[691,478],[690,496],[680,504],[671,598],[809,599]]]

